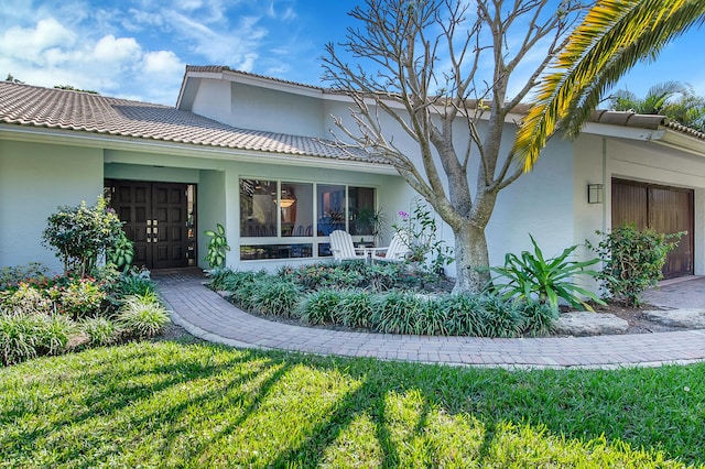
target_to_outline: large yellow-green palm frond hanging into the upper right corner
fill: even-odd
[[[598,0],[542,78],[517,133],[514,160],[530,171],[556,130],[576,135],[622,75],[703,21],[704,0]]]

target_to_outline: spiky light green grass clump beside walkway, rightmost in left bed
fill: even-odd
[[[153,293],[128,296],[117,320],[128,336],[140,339],[156,336],[170,323],[169,312]]]

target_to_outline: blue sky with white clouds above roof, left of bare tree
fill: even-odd
[[[2,2],[0,73],[153,102],[175,101],[185,64],[282,76],[305,43],[293,0]]]

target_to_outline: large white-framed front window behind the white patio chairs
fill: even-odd
[[[370,214],[373,188],[240,179],[240,259],[330,255],[335,230],[373,234]]]

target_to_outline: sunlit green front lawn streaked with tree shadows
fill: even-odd
[[[141,342],[0,369],[0,467],[680,467],[705,364],[505,371]]]

